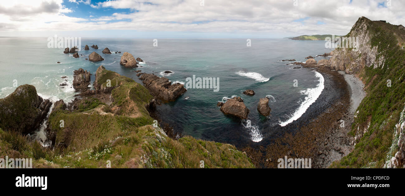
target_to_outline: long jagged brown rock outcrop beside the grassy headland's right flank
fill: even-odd
[[[183,84],[171,84],[168,78],[160,78],[153,74],[142,74],[139,79],[143,80],[143,84],[151,95],[162,101],[175,101],[177,97],[187,91]]]

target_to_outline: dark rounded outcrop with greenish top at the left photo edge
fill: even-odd
[[[4,131],[32,133],[46,118],[52,103],[42,99],[34,86],[24,84],[0,99],[0,128]]]

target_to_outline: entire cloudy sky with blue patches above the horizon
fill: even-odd
[[[405,25],[405,0],[0,0],[0,36],[283,38]]]

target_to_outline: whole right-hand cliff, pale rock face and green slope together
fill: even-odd
[[[327,66],[360,77],[367,96],[354,115],[354,150],[332,167],[404,167],[405,28],[361,17],[344,37],[357,47],[336,48]]]

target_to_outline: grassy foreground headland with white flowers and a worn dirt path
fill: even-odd
[[[55,144],[63,143],[67,148],[47,150],[22,140],[24,147],[18,151],[26,158],[36,158],[34,167],[105,168],[108,160],[113,168],[199,168],[201,160],[205,168],[253,167],[246,154],[233,145],[167,137],[161,128],[151,125],[153,119],[145,105],[153,98],[147,89],[124,76],[103,72],[108,72],[107,78],[114,77],[111,84],[121,84],[112,91],[113,104],[92,98],[82,101],[74,112],[51,113],[49,127],[56,132]],[[136,117],[131,117],[134,113]],[[64,120],[63,128],[60,120]],[[15,149],[13,139],[7,139],[10,135],[0,133],[0,154],[11,155]]]

